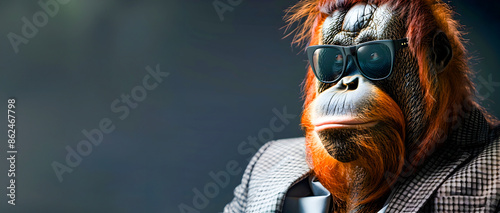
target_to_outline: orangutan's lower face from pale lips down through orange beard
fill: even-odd
[[[378,100],[387,102],[365,104],[363,110],[342,115],[321,111],[315,104],[305,111],[309,166],[339,205],[381,198],[395,181],[387,174],[397,177],[402,170],[405,119],[389,98]]]

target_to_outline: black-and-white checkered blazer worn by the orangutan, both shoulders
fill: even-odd
[[[500,129],[474,110],[409,177],[393,186],[387,213],[500,212]],[[255,154],[224,212],[282,212],[285,195],[312,174],[305,139],[266,143]]]

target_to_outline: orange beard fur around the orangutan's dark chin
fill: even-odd
[[[403,113],[399,106],[385,93],[376,91],[376,106],[364,114],[379,120],[381,127],[356,139],[361,150],[359,158],[353,162],[341,163],[325,150],[320,139],[314,134],[314,126],[308,116],[303,117],[306,129],[308,163],[320,182],[332,193],[337,210],[349,212],[360,205],[375,202],[383,197],[393,184],[404,164],[404,126]],[[311,108],[306,108],[308,113]],[[389,116],[388,116],[389,115]],[[360,187],[353,180],[355,170],[364,173],[364,183]],[[380,204],[375,207],[381,208]]]

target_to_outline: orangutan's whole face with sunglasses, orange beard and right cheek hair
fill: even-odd
[[[452,102],[439,106],[433,95],[450,95],[439,89],[457,89],[446,77],[439,79],[442,85],[436,84],[452,48],[431,10],[406,19],[412,8],[423,7],[422,2],[320,2],[315,22],[319,26],[313,27],[311,39],[318,45],[307,47],[311,69],[302,125],[308,162],[337,209],[372,212],[394,183],[386,174],[397,178],[405,157],[416,152],[418,157],[409,161],[417,162],[436,139],[436,134],[427,133],[435,133],[436,121],[443,124],[437,115]],[[420,31],[426,24],[432,26]],[[444,76],[463,78],[455,73]]]

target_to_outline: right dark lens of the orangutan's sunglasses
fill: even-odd
[[[361,70],[368,78],[382,79],[391,72],[391,50],[384,44],[361,46],[357,57]]]

